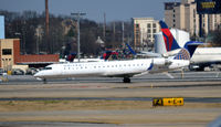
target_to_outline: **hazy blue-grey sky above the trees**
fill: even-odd
[[[164,18],[164,2],[175,0],[49,0],[49,10],[53,14],[66,14],[71,12],[85,12],[85,18],[103,21],[104,12],[106,20],[130,20],[138,17]],[[34,10],[44,11],[44,0],[0,0],[0,10],[19,11]]]

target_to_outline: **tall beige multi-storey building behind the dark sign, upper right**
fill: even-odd
[[[169,28],[177,28],[199,35],[199,14],[194,0],[181,2],[165,2],[165,21]],[[203,14],[202,31],[207,34],[220,27],[221,14]]]

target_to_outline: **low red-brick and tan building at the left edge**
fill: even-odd
[[[20,54],[19,39],[0,40],[0,67],[11,71],[13,66],[43,67],[59,62],[59,54]]]

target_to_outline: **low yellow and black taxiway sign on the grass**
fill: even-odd
[[[154,98],[152,106],[183,106],[183,97]]]

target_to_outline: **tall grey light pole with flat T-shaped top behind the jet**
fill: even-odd
[[[76,15],[76,19],[77,19],[77,59],[80,62],[80,57],[81,57],[81,55],[80,55],[80,53],[81,53],[81,50],[80,50],[80,47],[81,47],[81,44],[80,44],[80,19],[82,15],[86,15],[86,13],[77,12],[77,13],[71,13],[71,15]]]

